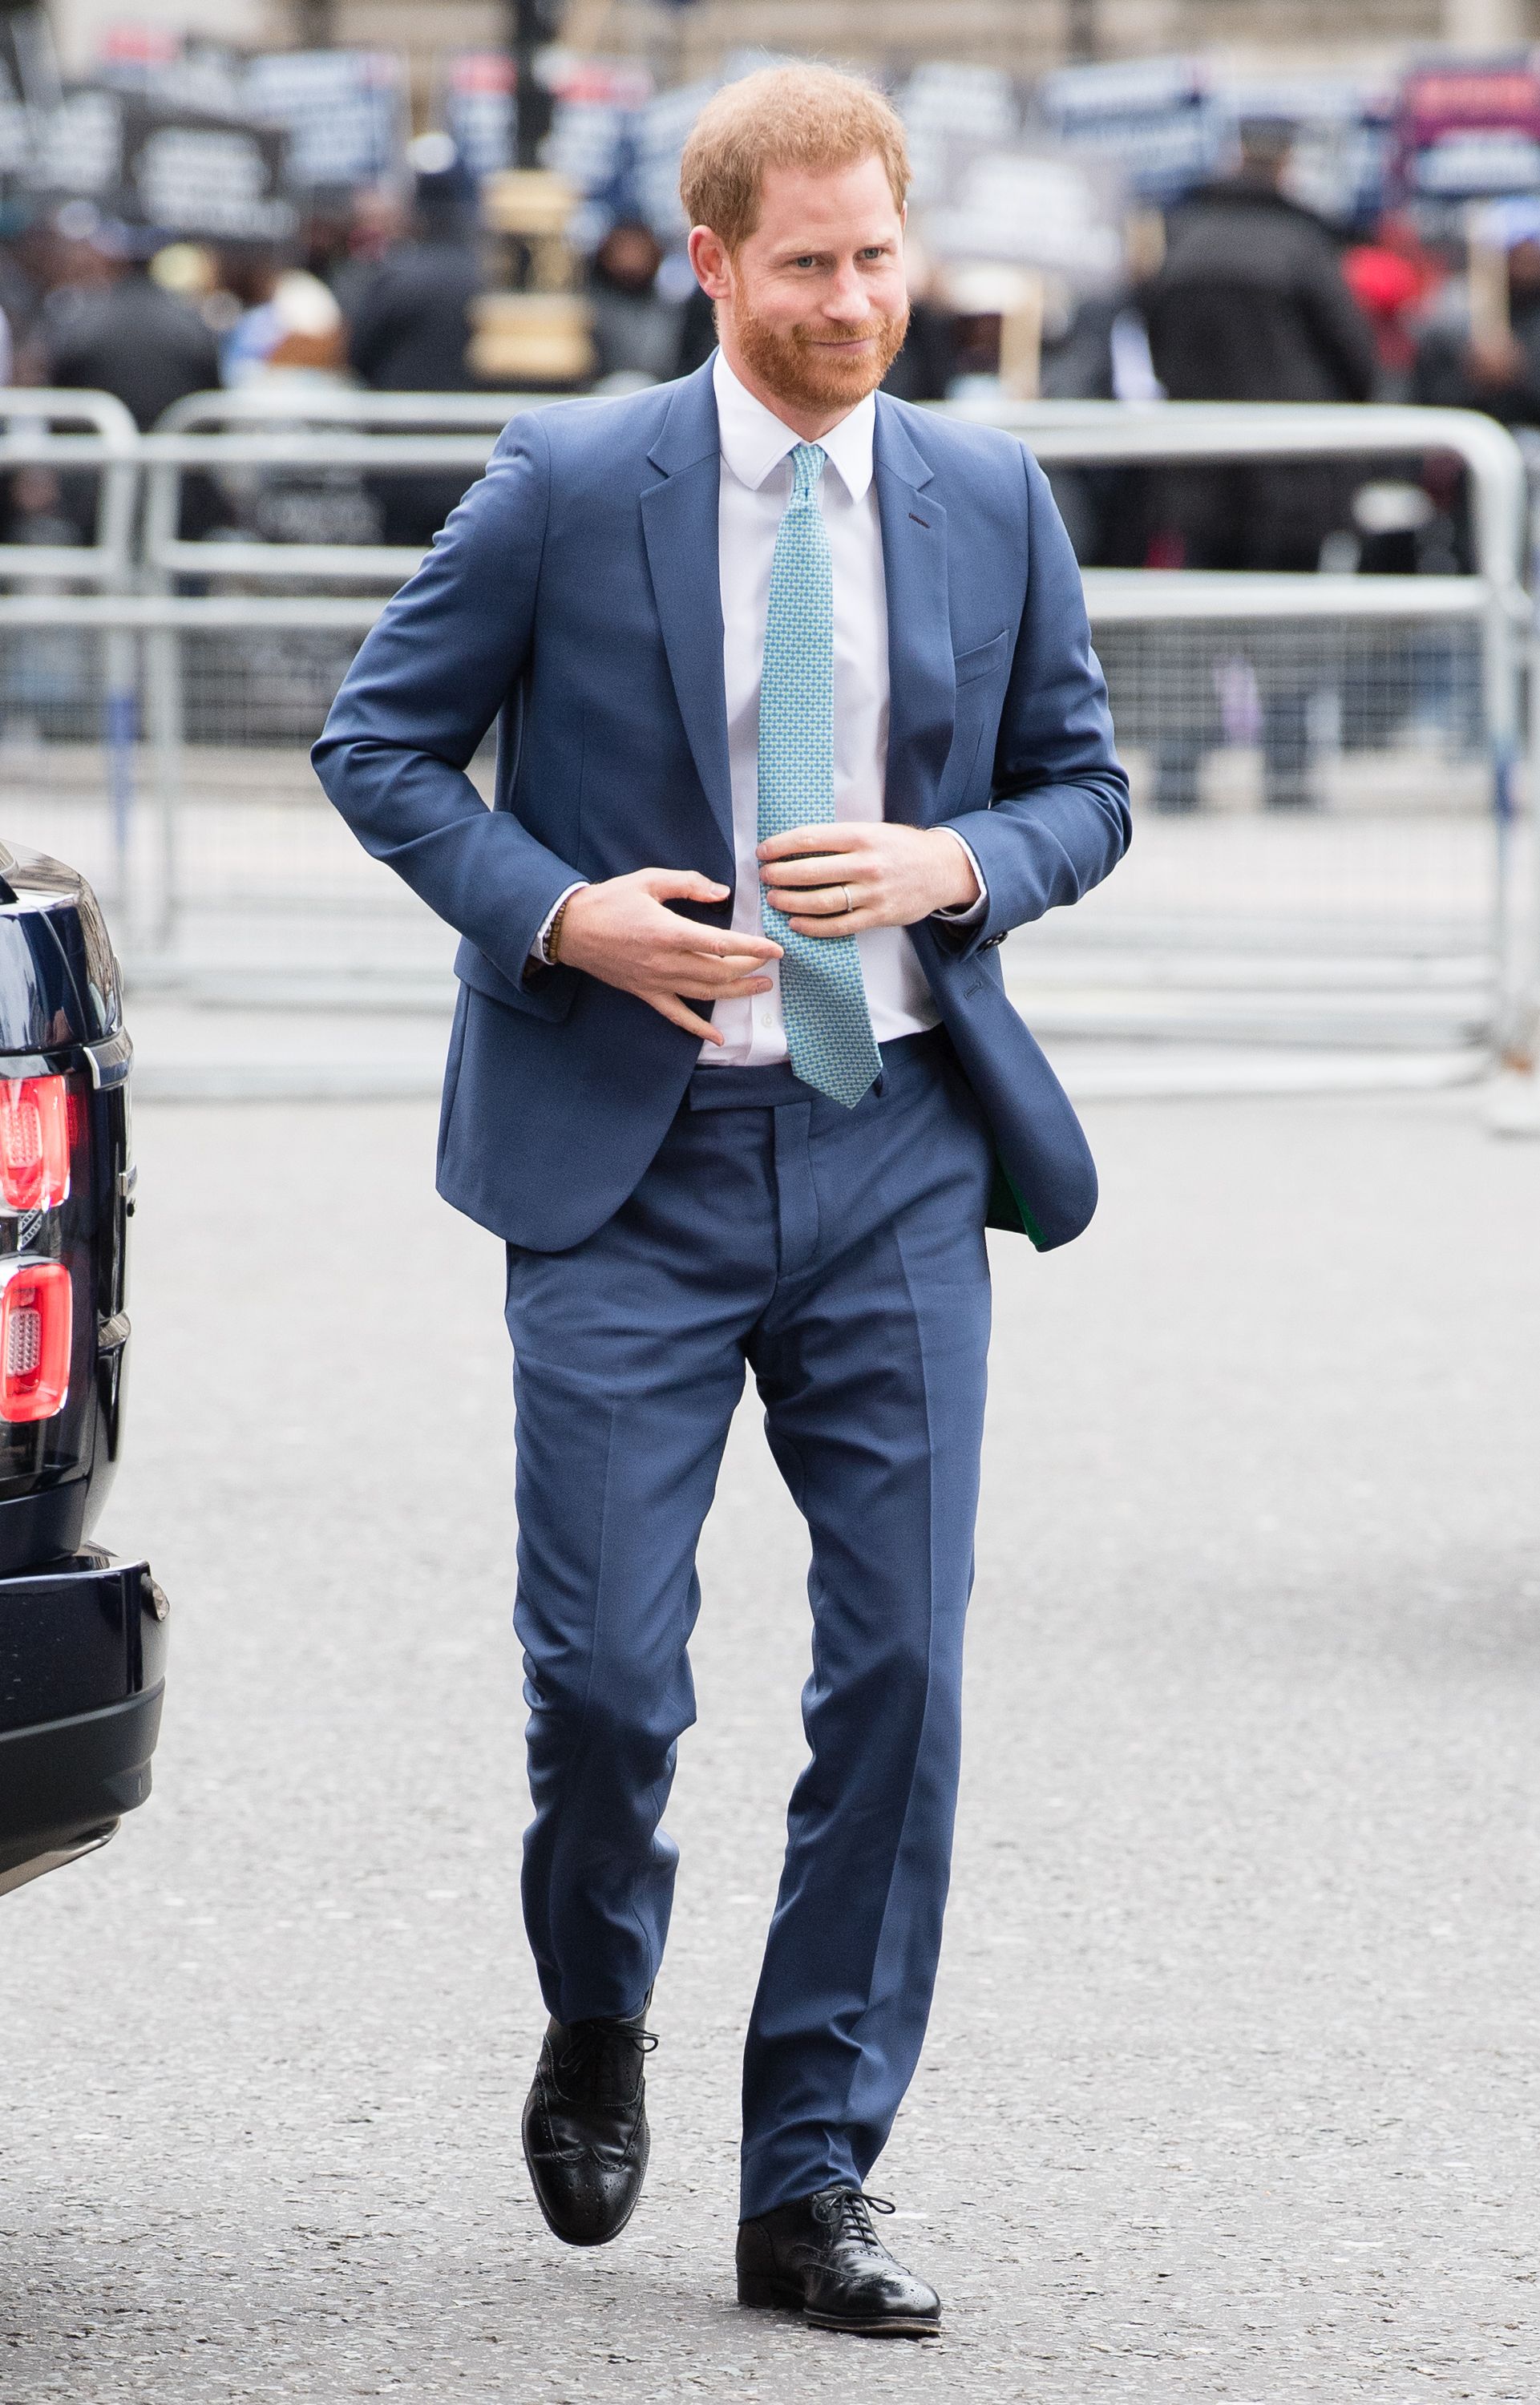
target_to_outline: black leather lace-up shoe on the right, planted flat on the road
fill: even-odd
[[[801,2309],[813,2328],[859,2338],[934,2338],[941,2297],[893,2261],[873,2210],[893,2205],[859,2189],[818,2189],[739,2222],[739,2304]]]

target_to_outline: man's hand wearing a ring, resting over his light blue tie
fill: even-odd
[[[758,847],[765,902],[799,936],[864,936],[914,926],[936,909],[967,909],[979,880],[962,844],[941,827],[833,820],[792,827]]]

